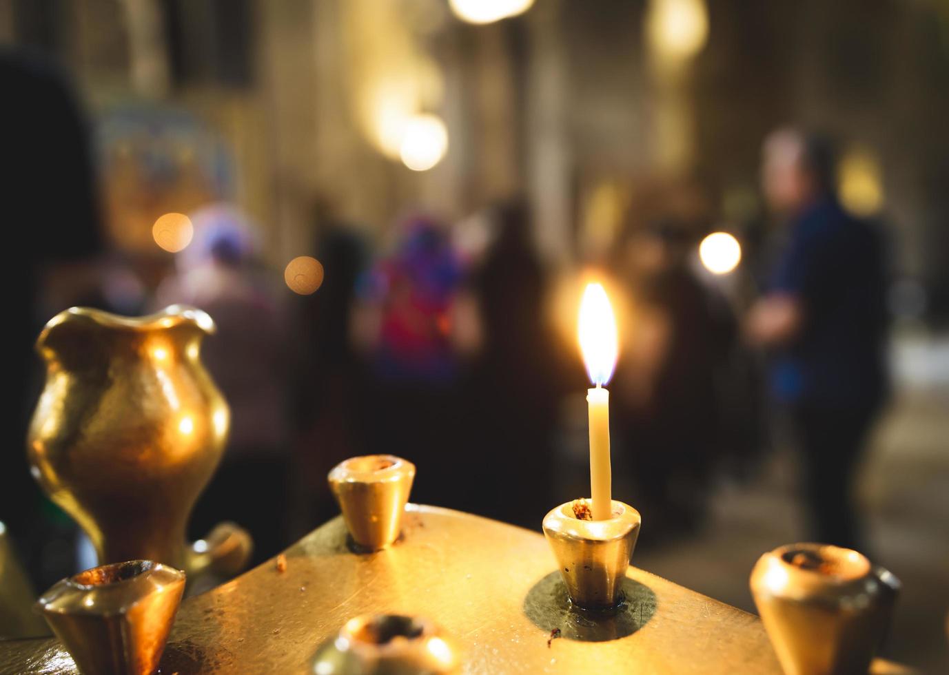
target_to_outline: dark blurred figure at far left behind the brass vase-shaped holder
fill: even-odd
[[[33,344],[72,305],[105,308],[106,250],[87,120],[65,74],[26,52],[0,48],[2,219],[17,270],[4,381],[15,424],[0,465],[0,521],[38,588],[75,572],[75,525],[42,494],[27,465],[29,417],[42,388]]]

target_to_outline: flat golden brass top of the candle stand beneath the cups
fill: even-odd
[[[327,639],[374,613],[434,621],[468,673],[781,672],[754,614],[659,576],[630,567],[629,611],[589,626],[568,607],[539,533],[413,504],[402,529],[395,545],[354,555],[336,518],[291,546],[285,564],[186,599],[161,672],[312,673]],[[55,639],[0,642],[0,673],[72,672]]]

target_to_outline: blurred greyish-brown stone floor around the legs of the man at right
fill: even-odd
[[[902,580],[884,654],[925,673],[949,673],[949,337],[903,336],[893,356],[897,393],[861,480],[876,559]],[[634,564],[754,611],[754,561],[805,538],[795,480],[793,453],[776,451],[753,483],[718,490],[698,538],[646,548]]]

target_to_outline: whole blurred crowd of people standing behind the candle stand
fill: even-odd
[[[543,224],[519,198],[456,223],[419,213],[391,224],[384,243],[314,208],[307,253],[325,277],[298,296],[231,204],[189,213],[191,244],[142,273],[107,243],[67,84],[7,55],[0,77],[34,92],[0,110],[2,161],[16,169],[7,213],[28,265],[9,322],[19,369],[10,400],[22,410],[0,472],[0,519],[42,585],[74,552],[72,526],[36,489],[23,451],[42,378],[31,343],[61,309],[141,314],[184,302],[214,318],[202,358],[232,429],[191,534],[235,520],[263,560],[337,513],[326,473],[354,455],[413,461],[413,501],[531,528],[584,494],[588,383],[554,315],[558,289],[576,291],[590,274],[628,318],[609,385],[615,494],[649,520],[653,543],[701,528],[716,485],[753,476],[782,419],[800,449],[813,537],[868,545],[851,494],[886,395],[884,240],[880,224],[835,198],[831,139],[791,128],[763,139],[769,208],[747,223],[723,222],[708,181],[643,177],[608,254],[568,269],[540,258]],[[56,198],[37,198],[50,184]],[[745,243],[728,276],[698,257],[718,229]]]

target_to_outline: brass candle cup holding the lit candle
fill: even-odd
[[[544,517],[544,535],[570,600],[587,610],[617,606],[640,534],[639,511],[614,500],[612,513],[609,520],[579,520],[573,502],[567,502]]]

